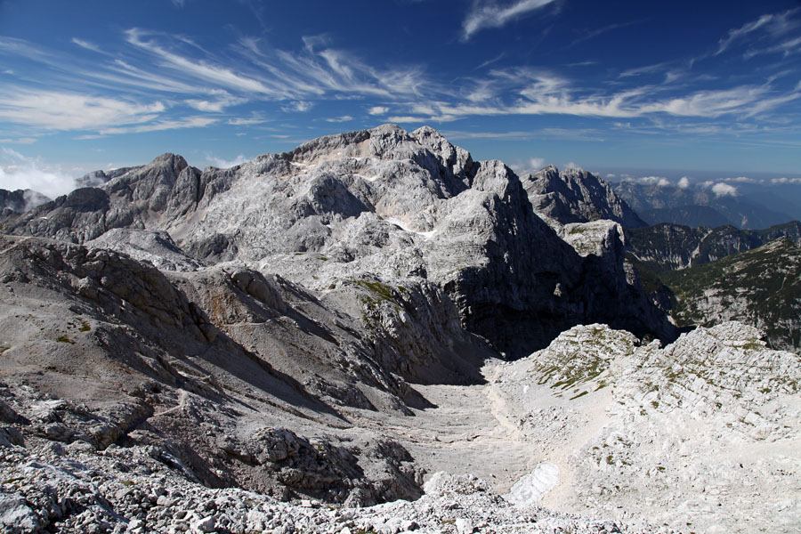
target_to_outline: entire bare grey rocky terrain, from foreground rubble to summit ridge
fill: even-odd
[[[554,179],[384,125],[4,214],[0,530],[793,531],[797,354],[651,341]]]

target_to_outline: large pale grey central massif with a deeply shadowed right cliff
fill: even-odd
[[[570,209],[630,219],[602,182],[564,176],[564,188],[585,198]],[[428,127],[382,125],[226,170],[201,173],[165,154],[40,206],[13,231],[72,242],[115,228],[166,231],[198,262],[238,260],[314,290],[358,279],[432,283],[465,328],[510,355],[595,320],[675,335],[627,284],[622,255],[606,255],[599,270],[532,211],[530,197],[499,161],[474,162]],[[614,206],[598,211],[603,201]]]

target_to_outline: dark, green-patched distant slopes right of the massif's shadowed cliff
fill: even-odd
[[[801,346],[801,223],[758,231],[661,223],[626,236],[645,293],[678,327],[740,320],[765,330],[774,348]]]

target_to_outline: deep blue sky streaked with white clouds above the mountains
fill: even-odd
[[[797,1],[0,0],[5,189],[384,122],[518,170],[797,178],[799,119]]]

